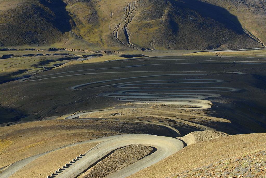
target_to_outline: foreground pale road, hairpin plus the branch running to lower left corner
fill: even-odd
[[[33,160],[50,152],[60,150],[62,148],[72,147],[86,143],[93,143],[93,142],[102,142],[102,143],[98,144],[97,146],[93,147],[91,150],[87,151],[82,159],[77,161],[76,164],[70,165],[69,168],[56,175],[56,178],[57,177],[74,178],[80,173],[82,173],[84,170],[86,170],[90,165],[97,162],[99,159],[103,158],[111,151],[120,147],[132,144],[143,144],[155,147],[157,149],[157,151],[154,152],[153,154],[115,173],[117,174],[118,177],[126,177],[152,164],[155,164],[164,158],[167,158],[168,156],[181,150],[184,146],[180,140],[175,138],[156,136],[156,135],[146,135],[146,134],[124,134],[124,135],[109,136],[105,138],[97,138],[57,148],[52,151],[48,151],[42,154],[31,156],[30,158],[17,161],[11,164],[9,167],[5,168],[0,173],[0,177],[8,178],[16,171],[24,167],[25,165],[31,163]]]

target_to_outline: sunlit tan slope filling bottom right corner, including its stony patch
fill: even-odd
[[[242,171],[250,171],[249,173],[252,173],[252,176],[244,177],[261,177],[255,175],[256,173],[260,172],[260,170],[262,170],[262,174],[259,175],[263,175],[263,170],[265,169],[257,169],[253,171],[249,170],[248,168],[252,166],[260,167],[260,164],[258,165],[258,163],[260,162],[263,162],[263,164],[265,165],[265,155],[260,157],[262,161],[256,160],[257,162],[249,159],[248,155],[260,151],[265,151],[265,136],[265,133],[242,134],[225,137],[222,136],[213,140],[197,142],[183,148],[182,150],[169,156],[168,158],[128,177],[162,178],[174,177],[174,175],[177,175],[177,177],[180,178],[202,177],[202,175],[207,177],[218,177],[218,175],[220,175],[220,177],[222,178],[228,178],[234,176],[235,172],[238,173],[237,176],[235,174],[236,177],[243,175],[241,174]],[[245,159],[245,157],[247,158],[247,162],[242,162],[244,165],[238,165],[238,163],[240,162],[239,159]],[[219,161],[225,163],[225,167],[224,169],[222,169],[222,172],[218,172],[219,169],[216,167],[216,165],[219,164]],[[261,164],[261,167],[263,167],[263,164]],[[210,170],[213,172],[207,172],[208,168],[214,168],[214,170]],[[214,175],[212,175],[212,173]],[[215,175],[215,173],[217,174]],[[180,174],[185,175],[183,176]]]

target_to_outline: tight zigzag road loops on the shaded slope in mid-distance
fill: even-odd
[[[167,59],[168,60],[168,59]],[[217,63],[178,63],[178,64],[217,64]],[[178,65],[178,64],[147,64],[147,65],[131,65],[131,66],[123,66],[123,67],[112,67],[112,68],[98,68],[98,69],[88,69],[88,70],[80,70],[81,71],[89,71],[89,70],[103,70],[103,69],[117,69],[117,68],[130,68],[130,67],[140,67],[140,66],[155,66],[155,65]],[[220,64],[220,63],[218,63]],[[231,63],[222,63],[222,64],[231,64]],[[235,63],[235,64],[251,64],[251,63]],[[252,63],[255,64],[255,63]],[[256,63],[257,64],[257,63]],[[264,63],[261,63],[264,64]],[[56,75],[56,74],[63,74],[63,73],[70,73],[70,72],[78,72],[78,71],[69,71],[69,72],[62,72],[62,73],[55,73],[50,75]],[[111,79],[111,80],[102,80],[102,81],[94,81],[89,82],[85,84],[80,84],[76,86],[72,86],[68,88],[69,90],[81,90],[81,87],[89,86],[92,84],[101,84],[105,82],[112,82],[112,81],[118,81],[118,80],[132,80],[137,78],[151,78],[151,77],[161,77],[161,76],[184,76],[184,75],[191,75],[191,76],[203,76],[207,75],[209,73],[235,73],[235,74],[244,74],[240,72],[204,72],[200,71],[200,73],[197,73],[195,71],[185,71],[187,73],[181,73],[177,74],[177,72],[184,72],[184,71],[132,71],[132,72],[97,72],[97,73],[81,73],[81,74],[72,74],[72,75],[64,75],[64,76],[56,76],[56,77],[48,77],[49,75],[44,76],[37,76],[37,77],[31,77],[31,78],[24,78],[20,81],[24,82],[30,82],[30,81],[36,81],[36,80],[45,80],[45,79],[53,79],[53,78],[60,78],[60,77],[69,77],[69,76],[78,76],[78,75],[84,75],[84,74],[111,74],[111,73],[145,73],[145,72],[153,72],[153,73],[171,73],[171,74],[160,74],[160,75],[146,75],[146,76],[139,76],[139,77],[127,77],[127,78],[117,78],[117,79]],[[193,72],[193,73],[191,73]],[[198,71],[199,72],[199,71]],[[45,78],[40,78],[45,77]],[[38,79],[39,78],[39,79]],[[196,81],[198,80],[198,81]],[[239,89],[236,88],[230,88],[230,87],[210,87],[210,86],[174,86],[174,85],[180,85],[180,84],[198,84],[198,83],[217,83],[222,82],[220,79],[192,79],[191,81],[187,79],[176,79],[176,80],[146,80],[145,84],[132,84],[132,82],[142,82],[145,80],[138,80],[138,81],[131,81],[131,82],[123,82],[123,83],[114,83],[114,84],[108,84],[108,85],[102,85],[102,86],[96,86],[96,87],[104,87],[104,86],[114,86],[117,88],[173,88],[172,90],[165,89],[166,92],[160,92],[160,90],[150,89],[150,90],[124,90],[123,92],[117,92],[119,93],[116,95],[117,97],[122,96],[120,98],[121,101],[129,101],[129,98],[132,98],[130,101],[132,101],[133,104],[168,104],[168,105],[190,105],[192,107],[186,107],[186,109],[208,109],[211,106],[209,105],[210,102],[207,100],[200,100],[198,98],[206,98],[203,96],[196,96],[193,94],[194,92],[234,92],[238,91]],[[164,81],[162,82],[156,82],[156,81]],[[167,81],[169,81],[167,83]],[[179,81],[179,82],[178,82]],[[187,81],[187,82],[180,82],[180,81]],[[156,82],[156,83],[147,83],[147,82]],[[163,85],[172,85],[172,86],[163,86]],[[134,86],[138,85],[138,87]],[[160,86],[147,86],[147,85],[160,85]],[[93,86],[95,88],[95,86]],[[180,88],[180,89],[178,89]],[[188,89],[185,89],[188,88]],[[206,90],[206,88],[209,88],[209,90]],[[210,90],[211,89],[211,90]],[[131,91],[131,93],[130,93]],[[145,91],[145,93],[139,93],[139,95],[135,95],[136,92],[139,91]],[[168,92],[167,92],[168,91]],[[193,92],[193,93],[186,93],[187,96],[185,96],[182,93],[173,93],[173,91],[178,92]],[[150,94],[149,92],[153,92]],[[171,92],[171,93],[170,93]],[[134,95],[134,96],[133,96]],[[169,96],[168,96],[169,95]],[[180,95],[180,96],[177,96]],[[189,96],[188,96],[189,95]],[[201,93],[197,93],[196,95],[201,95]],[[113,97],[112,93],[107,93],[105,96]],[[168,97],[167,97],[168,96]],[[162,98],[163,97],[163,98]],[[187,98],[186,98],[187,97]],[[181,99],[180,99],[181,98]],[[195,99],[193,99],[195,98]],[[168,100],[168,101],[167,101]],[[196,107],[195,107],[196,106]]]

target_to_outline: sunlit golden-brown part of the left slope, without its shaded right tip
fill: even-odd
[[[122,134],[92,123],[58,119],[1,127],[0,167],[79,141]]]

